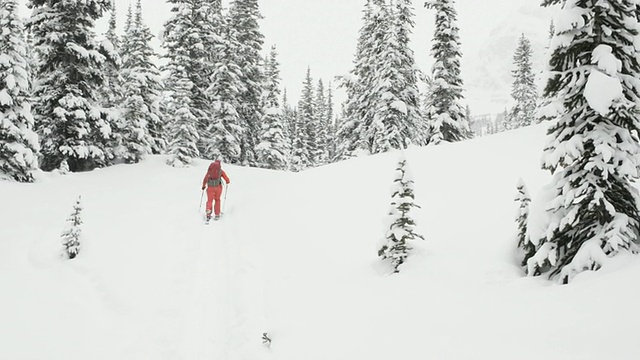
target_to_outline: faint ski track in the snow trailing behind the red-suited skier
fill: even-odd
[[[220,220],[200,225],[199,238],[188,250],[192,262],[182,276],[188,300],[177,359],[264,358],[257,346],[262,335],[257,324],[265,317],[263,285],[255,281],[259,259],[243,249],[246,244],[238,236],[243,224],[234,209],[229,205]]]

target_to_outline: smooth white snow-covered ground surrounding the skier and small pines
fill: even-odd
[[[206,161],[0,183],[0,359],[639,359],[640,259],[568,286],[515,264],[516,183],[546,184],[543,144],[536,126],[406,151],[426,241],[392,276],[376,253],[398,153],[225,166],[209,226]],[[78,195],[83,248],[62,261]]]

